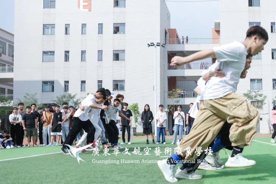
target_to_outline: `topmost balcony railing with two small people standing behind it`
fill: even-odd
[[[165,44],[219,44],[219,38],[166,38]]]

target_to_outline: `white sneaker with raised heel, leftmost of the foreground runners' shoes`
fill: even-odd
[[[157,165],[168,182],[171,182],[171,183],[178,182],[176,177],[174,177],[174,168],[176,167],[176,165],[169,165],[167,163],[167,159],[158,160]]]

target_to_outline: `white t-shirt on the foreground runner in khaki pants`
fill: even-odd
[[[233,42],[219,47],[214,47],[218,66],[225,73],[224,78],[211,77],[205,85],[205,91],[200,100],[209,100],[223,97],[230,92],[237,91],[240,74],[245,67],[247,50],[239,42]]]

